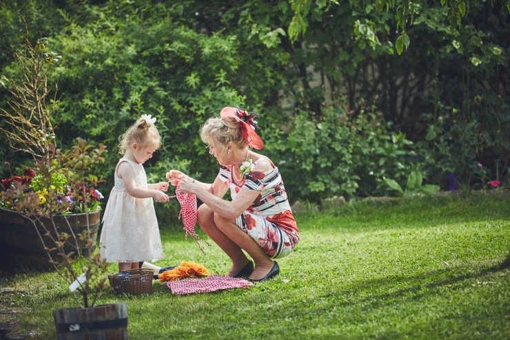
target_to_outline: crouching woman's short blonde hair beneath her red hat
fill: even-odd
[[[241,134],[238,121],[230,117],[207,119],[200,130],[200,138],[207,145],[211,144],[212,138],[216,138],[223,145],[228,142],[233,142],[240,148],[248,145]]]

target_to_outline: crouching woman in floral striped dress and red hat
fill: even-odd
[[[272,258],[288,255],[299,242],[299,231],[278,168],[251,149],[264,147],[255,118],[258,114],[225,107],[220,118],[203,125],[201,138],[220,164],[212,184],[176,170],[166,177],[181,192],[194,193],[203,202],[198,224],[232,259],[227,276],[260,282],[280,273]],[[228,189],[230,201],[223,200]]]

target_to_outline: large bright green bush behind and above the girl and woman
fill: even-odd
[[[168,15],[144,7],[144,15],[158,19],[143,20],[130,6],[111,3],[99,12],[86,5],[68,34],[50,39],[63,55],[53,74],[62,91],[54,114],[57,133],[101,140],[116,150],[133,117],[152,114],[163,164],[154,159],[147,173],[161,180],[170,167],[187,170],[183,164],[196,173],[214,172],[198,131],[221,107],[245,100],[231,83],[242,61],[238,43],[234,36],[207,36],[178,25],[169,8],[156,6]],[[112,186],[117,159],[116,152],[108,155],[105,188]]]

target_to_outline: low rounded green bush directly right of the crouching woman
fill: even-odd
[[[317,202],[334,195],[388,195],[385,179],[407,179],[416,163],[414,145],[392,131],[380,114],[358,116],[328,109],[309,120],[299,112],[279,148],[291,197]]]

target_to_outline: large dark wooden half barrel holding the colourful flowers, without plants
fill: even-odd
[[[58,233],[68,234],[70,234],[71,229],[72,233],[78,237],[78,234],[89,229],[95,242],[101,223],[100,215],[100,211],[53,215],[52,217],[41,217],[44,226],[39,224],[34,226],[30,220],[20,213],[0,209],[0,266],[2,268],[30,268],[34,270],[53,268],[44,245],[52,248],[54,243],[50,237],[43,236],[43,245],[37,230],[41,235],[44,235],[45,228],[51,231],[56,228]],[[85,244],[79,242],[79,248],[81,248],[83,255],[88,255]],[[65,251],[66,253],[69,251],[76,253],[76,248],[66,247]]]

